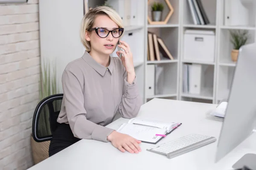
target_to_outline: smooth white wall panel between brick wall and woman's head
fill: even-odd
[[[82,57],[80,25],[84,16],[83,0],[39,0],[41,61],[51,61],[57,71],[57,84],[63,93],[61,76],[67,64]],[[79,16],[79,17],[74,17]]]

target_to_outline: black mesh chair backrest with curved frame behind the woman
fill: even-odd
[[[32,121],[32,136],[36,142],[52,139],[61,111],[62,99],[63,94],[53,94],[38,103]]]

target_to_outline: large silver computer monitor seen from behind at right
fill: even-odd
[[[244,139],[253,133],[255,128],[256,43],[244,45],[239,49],[233,82],[227,101],[228,104],[217,144],[215,162],[222,159],[227,153],[243,142]],[[256,155],[250,156],[255,156],[252,159],[254,162],[241,162],[241,164],[254,163],[254,166],[256,166]],[[250,161],[250,159],[245,160]]]

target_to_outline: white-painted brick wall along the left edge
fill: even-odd
[[[0,170],[33,165],[32,116],[39,98],[38,0],[0,5]]]

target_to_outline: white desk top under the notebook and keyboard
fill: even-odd
[[[170,135],[159,143],[168,142],[190,133],[218,136],[222,121],[209,115],[216,105],[168,99],[153,99],[145,103],[138,117],[181,122]],[[118,129],[127,119],[120,118],[108,127]],[[214,163],[217,142],[189,153],[167,159],[166,156],[146,151],[152,144],[142,143],[142,152],[122,153],[111,142],[82,139],[72,146],[31,167],[30,170],[231,170],[232,165],[245,153],[256,153],[256,135],[250,136],[218,164]],[[253,142],[254,141],[254,142]],[[252,150],[253,149],[253,150]]]

